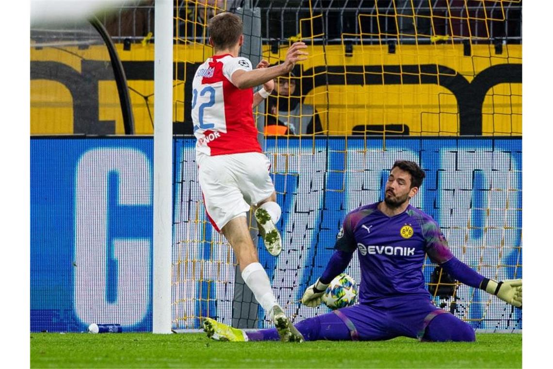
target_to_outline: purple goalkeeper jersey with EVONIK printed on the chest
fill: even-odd
[[[453,257],[440,227],[429,215],[409,205],[389,217],[378,203],[349,212],[335,249],[357,250],[361,267],[359,302],[400,295],[425,295],[422,264],[425,254],[436,263]]]

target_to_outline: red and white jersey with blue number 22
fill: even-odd
[[[252,70],[246,58],[215,55],[200,65],[192,81],[192,122],[196,155],[261,152],[253,119],[253,89],[231,82],[237,70]]]

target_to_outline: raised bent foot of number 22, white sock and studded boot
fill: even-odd
[[[276,203],[276,193],[269,198],[260,201],[255,210],[255,220],[259,227],[259,233],[263,237],[265,247],[270,254],[278,256],[282,251],[282,239],[276,229],[276,223],[280,219],[280,206]]]

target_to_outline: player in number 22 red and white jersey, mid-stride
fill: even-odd
[[[262,60],[257,69],[239,58],[243,44],[242,20],[221,13],[208,23],[213,56],[200,65],[192,81],[192,121],[196,142],[198,179],[211,224],[231,244],[242,277],[255,299],[273,319],[283,341],[301,341],[300,332],[284,314],[249,234],[246,212],[255,219],[268,251],[277,256],[281,238],[275,224],[280,207],[269,176],[269,159],[257,141],[253,107],[273,90],[273,79],[288,74],[305,60],[304,43],[291,45],[284,63],[269,67]],[[253,93],[252,87],[264,85]]]

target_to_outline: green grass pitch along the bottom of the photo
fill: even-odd
[[[397,338],[378,342],[218,342],[204,334],[32,333],[32,368],[520,368],[521,334],[475,343]]]

